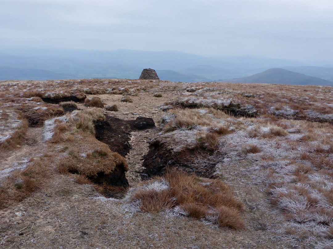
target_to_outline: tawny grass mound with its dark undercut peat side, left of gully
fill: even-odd
[[[127,185],[125,172],[129,168],[126,159],[111,151],[105,143],[98,141],[94,136],[94,129],[89,128],[104,118],[100,109],[80,110],[67,121],[58,123],[54,136],[67,136],[66,139],[57,141],[60,146],[66,148],[66,156],[61,157],[56,163],[57,171],[61,174],[75,174],[74,179],[77,183],[90,184],[101,194],[108,194],[115,191],[111,185]],[[68,136],[71,139],[68,139]]]

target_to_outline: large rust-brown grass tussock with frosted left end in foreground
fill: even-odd
[[[132,204],[145,212],[172,210],[179,215],[203,219],[219,227],[243,228],[243,205],[220,180],[208,180],[171,171],[137,189]]]

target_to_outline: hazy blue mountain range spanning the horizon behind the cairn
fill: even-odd
[[[12,54],[11,54],[12,53]],[[205,57],[178,51],[139,51],[117,49],[113,51],[66,48],[0,47],[0,80],[38,78],[38,71],[47,70],[50,79],[65,78],[128,78],[138,79],[144,68],[159,71],[163,80],[181,82],[223,81],[244,78],[270,68],[295,70],[309,76],[333,80],[333,67],[309,67],[284,59],[252,55],[232,57]],[[51,73],[52,72],[52,73]],[[46,75],[40,71],[41,75]],[[288,84],[293,84],[289,82]],[[327,82],[326,82],[327,84]]]

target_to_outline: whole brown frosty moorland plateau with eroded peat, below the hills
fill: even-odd
[[[333,88],[0,82],[0,248],[333,248]]]

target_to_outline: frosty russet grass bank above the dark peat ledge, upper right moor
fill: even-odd
[[[333,122],[330,87],[281,86],[267,84],[210,84],[188,88],[189,97],[180,97],[165,106],[224,110],[235,116],[271,114],[288,119]],[[195,91],[196,89],[199,89]]]

